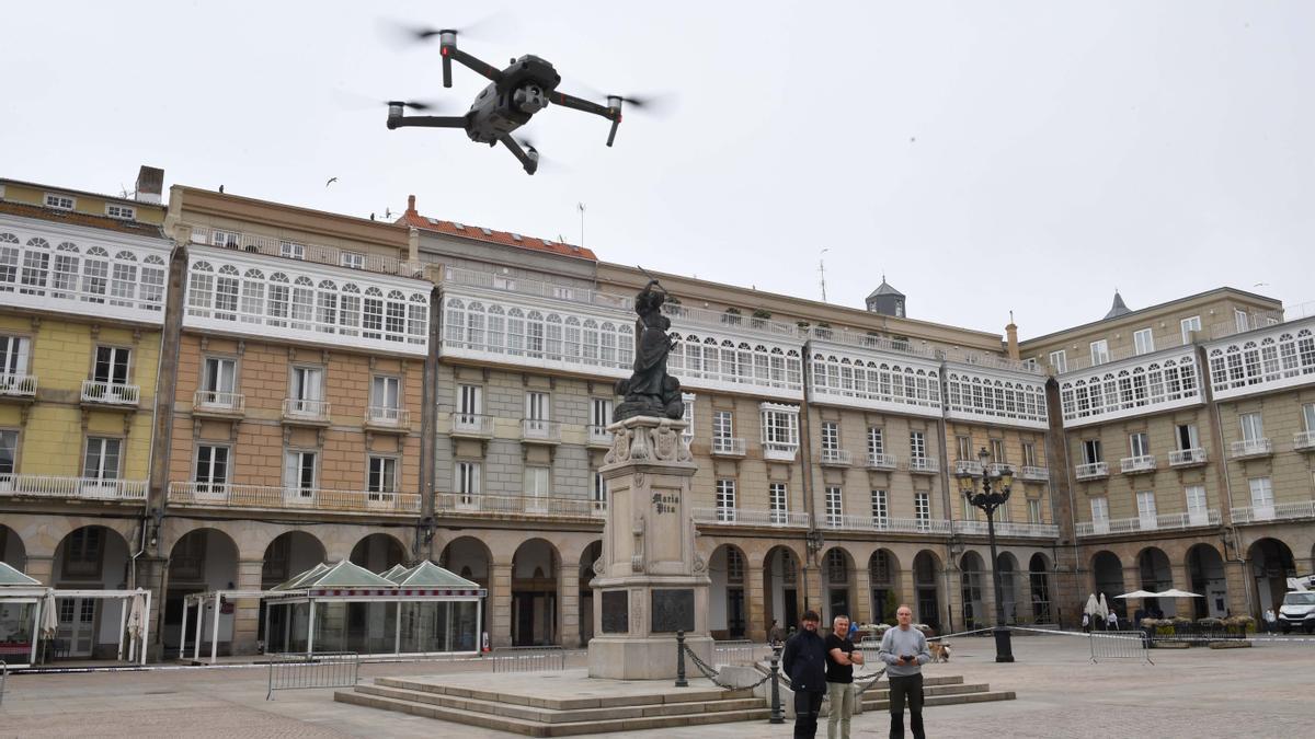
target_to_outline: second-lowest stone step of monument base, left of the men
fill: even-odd
[[[359,693],[381,696],[400,701],[413,701],[448,709],[505,715],[540,723],[569,723],[581,721],[604,721],[642,718],[652,715],[682,715],[706,711],[751,710],[763,707],[763,700],[752,696],[746,698],[729,698],[713,701],[664,702],[648,705],[618,705],[592,709],[546,709],[537,706],[523,706],[508,703],[505,701],[485,701],[480,698],[464,698],[447,696],[430,690],[408,690],[404,688],[389,688],[387,685],[362,684],[356,686]]]

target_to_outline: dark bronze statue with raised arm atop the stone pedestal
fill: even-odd
[[[672,341],[667,335],[671,318],[661,314],[667,291],[658,280],[648,280],[635,296],[635,366],[629,380],[617,380],[617,394],[625,400],[617,406],[611,419],[623,421],[635,416],[681,418],[685,405],[680,396],[680,380],[667,373],[667,355]]]

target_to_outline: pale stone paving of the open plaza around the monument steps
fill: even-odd
[[[995,664],[989,639],[955,640],[931,675],[1015,690],[1016,701],[928,709],[931,736],[1293,736],[1310,734],[1315,642],[1260,640],[1247,650],[1155,650],[1155,665],[1090,664],[1070,635],[1019,636],[1015,664]],[[575,655],[572,667],[584,664]],[[389,675],[488,672],[487,663],[362,667]],[[508,736],[468,726],[333,702],[331,689],[287,690],[267,702],[262,668],[18,675],[0,706],[0,736]],[[855,717],[855,736],[885,736],[885,713]],[[825,727],[819,732],[825,736]],[[730,723],[627,736],[789,736],[790,726]]]

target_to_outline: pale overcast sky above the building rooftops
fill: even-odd
[[[359,100],[483,78],[379,20],[460,26],[667,117],[550,107],[530,178]],[[4,11],[0,176],[166,187],[580,241],[600,258],[1023,338],[1219,285],[1315,300],[1315,3],[26,3]],[[360,96],[360,97],[352,97]],[[338,181],[325,187],[325,180]],[[822,251],[826,251],[823,255]]]

